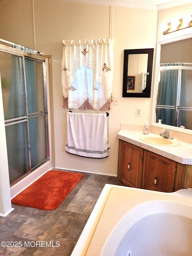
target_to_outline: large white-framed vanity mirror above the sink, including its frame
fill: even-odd
[[[157,59],[161,65],[157,64],[159,68],[155,71],[157,83],[153,101],[155,123],[163,119],[162,126],[185,129],[186,133],[192,130],[191,45],[192,34],[158,43]]]

